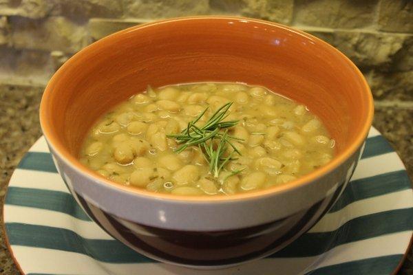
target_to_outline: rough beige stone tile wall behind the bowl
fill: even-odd
[[[411,0],[0,0],[0,85],[43,87],[107,34],[193,14],[255,17],[315,34],[359,66],[377,104],[413,106]]]

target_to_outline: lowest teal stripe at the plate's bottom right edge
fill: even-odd
[[[381,256],[359,261],[340,263],[338,265],[320,267],[317,270],[306,273],[306,275],[389,275],[396,270],[397,265],[399,265],[402,259],[403,254]]]

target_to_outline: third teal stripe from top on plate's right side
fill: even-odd
[[[272,256],[317,256],[337,245],[408,230],[413,230],[413,208],[379,212],[352,219],[331,232],[306,233]]]

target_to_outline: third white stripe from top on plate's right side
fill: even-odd
[[[326,214],[308,232],[330,232],[337,230],[344,223],[368,214],[413,207],[412,189],[393,192],[361,201],[354,201],[345,208]]]

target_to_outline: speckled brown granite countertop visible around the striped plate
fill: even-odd
[[[19,160],[41,136],[39,102],[42,89],[0,86],[0,222],[8,181]],[[378,107],[374,126],[392,143],[413,179],[413,108]],[[0,274],[18,275],[0,229]],[[399,274],[413,274],[413,250]]]

